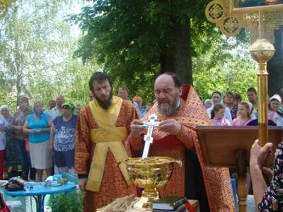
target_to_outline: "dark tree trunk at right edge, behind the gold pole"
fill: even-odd
[[[279,30],[275,30],[275,54],[267,62],[268,76],[268,93],[270,97],[275,95],[275,93],[281,95],[283,86],[283,26],[280,25]]]

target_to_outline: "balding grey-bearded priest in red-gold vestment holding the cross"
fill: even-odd
[[[186,196],[200,201],[200,211],[235,211],[231,179],[226,168],[204,167],[195,126],[212,125],[207,112],[192,86],[181,86],[173,73],[156,78],[156,103],[142,120],[134,120],[128,141],[134,151],[140,151],[150,114],[156,114],[159,126],[154,128],[149,156],[165,156],[182,160],[173,175],[158,192],[161,196]]]

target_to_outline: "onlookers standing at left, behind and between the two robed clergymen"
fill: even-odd
[[[132,102],[139,118],[154,105],[142,106],[140,96],[128,100],[129,90],[125,86],[117,89],[117,95]],[[88,93],[89,101],[93,92]],[[43,111],[41,101],[33,102],[27,95],[18,98],[15,114],[7,105],[0,107],[0,179],[21,175],[25,180],[42,181],[46,176],[74,172],[74,145],[76,122],[81,104],[65,102],[63,95],[50,100],[49,109]]]

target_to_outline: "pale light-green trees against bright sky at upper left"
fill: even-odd
[[[47,105],[55,95],[69,92],[69,66],[76,61],[76,72],[83,65],[72,59],[77,38],[62,8],[67,4],[59,0],[23,1],[0,20],[1,103],[16,106],[25,93]]]

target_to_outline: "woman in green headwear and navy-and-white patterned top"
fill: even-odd
[[[51,129],[50,149],[54,156],[54,173],[74,173],[76,108],[65,102],[62,105],[63,114],[53,120]]]

